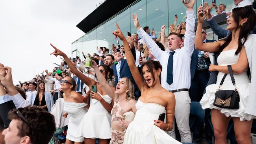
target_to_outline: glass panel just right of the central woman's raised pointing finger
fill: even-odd
[[[127,36],[127,31],[130,32],[130,8],[117,15],[117,24],[124,36]],[[122,42],[120,41],[120,45],[121,44]]]

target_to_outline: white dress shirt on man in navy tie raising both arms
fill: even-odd
[[[150,52],[158,59],[163,66],[161,72],[161,85],[167,90],[189,89],[190,88],[190,62],[195,43],[195,16],[194,11],[187,11],[186,33],[184,47],[175,50],[173,55],[173,83],[169,85],[167,79],[167,64],[169,51],[162,51],[156,42],[141,28],[137,31],[139,36],[147,44]]]

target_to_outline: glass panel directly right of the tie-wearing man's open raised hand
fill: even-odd
[[[156,37],[159,36],[161,26],[168,28],[168,2],[167,0],[147,0],[147,26],[156,31]],[[142,26],[143,27],[143,26]],[[168,32],[168,29],[166,29]]]

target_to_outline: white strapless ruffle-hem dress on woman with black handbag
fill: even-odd
[[[227,65],[233,65],[236,64],[239,55],[235,55],[236,50],[227,50],[224,52],[221,52],[219,57],[217,58],[218,64],[220,66],[227,66]],[[221,79],[223,78],[224,73],[219,72],[217,77],[217,83],[208,85],[206,87],[206,93],[202,97],[200,104],[202,105],[203,109],[218,109],[221,111],[221,113],[225,114],[227,117],[238,117],[241,121],[243,120],[251,120],[253,118],[256,118],[256,116],[252,116],[250,114],[245,113],[245,108],[247,106],[247,101],[249,97],[249,88],[250,88],[250,80],[247,76],[247,70],[245,70],[241,74],[234,74],[234,78],[236,81],[236,87],[239,92],[240,96],[240,102],[239,102],[239,109],[225,109],[216,107],[213,105],[213,102],[215,100],[215,92],[219,88],[219,84],[221,83]],[[221,85],[220,90],[234,90],[234,86],[232,84],[230,74],[228,74],[224,80],[223,85]]]

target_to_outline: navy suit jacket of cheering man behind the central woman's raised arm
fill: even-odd
[[[136,60],[136,52],[135,49],[132,48],[131,49],[132,55],[134,56],[134,60]],[[114,64],[111,68],[114,71],[114,75],[115,75],[115,84],[118,83],[118,77],[117,77],[117,68],[115,67],[116,64]],[[128,77],[130,79],[132,79],[132,83],[134,83],[134,87],[137,88],[137,85],[134,81],[134,78],[132,77],[132,73],[130,71],[130,68],[128,66],[127,60],[126,59],[122,59],[121,60],[121,66],[120,66],[120,78],[124,78],[124,77]]]

